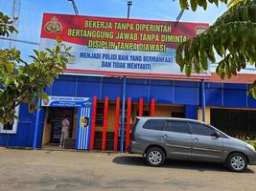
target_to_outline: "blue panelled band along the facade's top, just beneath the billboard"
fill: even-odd
[[[64,85],[63,85],[64,84]],[[151,79],[127,80],[127,97],[146,102],[155,98],[156,103],[200,105],[200,82],[168,81]],[[60,75],[51,88],[49,96],[98,96],[104,100],[108,96],[114,101],[122,97],[123,79],[110,77],[89,77]],[[256,108],[256,101],[246,96],[246,84],[222,84],[205,82],[206,106]]]

